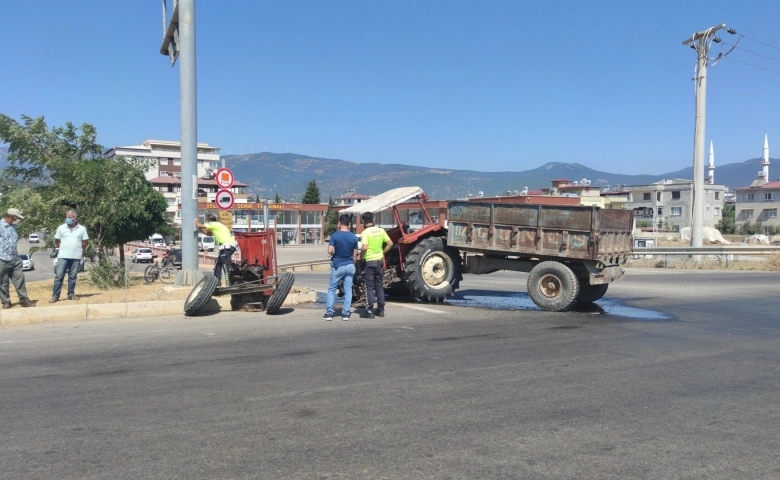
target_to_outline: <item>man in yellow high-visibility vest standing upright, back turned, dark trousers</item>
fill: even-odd
[[[363,260],[363,281],[366,282],[366,311],[360,318],[385,316],[385,286],[384,262],[385,253],[393,248],[393,241],[382,227],[374,225],[374,214],[366,212],[361,215],[364,230],[360,233],[360,243]],[[377,309],[374,311],[374,292],[376,292]]]

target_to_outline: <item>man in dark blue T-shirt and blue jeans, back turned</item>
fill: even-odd
[[[333,232],[328,242],[328,254],[331,256],[330,281],[323,320],[333,320],[333,302],[336,301],[336,289],[340,281],[344,281],[344,307],[341,309],[341,319],[349,320],[352,307],[352,279],[355,276],[355,262],[360,250],[357,245],[357,235],[349,231],[349,215],[339,217],[339,229]]]

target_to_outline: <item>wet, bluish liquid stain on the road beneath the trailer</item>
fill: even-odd
[[[527,293],[489,292],[485,290],[462,290],[448,298],[446,303],[463,307],[487,308],[491,310],[541,310]],[[630,307],[616,300],[602,298],[594,303],[576,303],[574,312],[593,315],[610,315],[646,322],[668,322],[674,316],[657,310]]]

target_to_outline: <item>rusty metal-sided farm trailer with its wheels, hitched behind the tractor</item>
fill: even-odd
[[[450,202],[448,223],[463,272],[528,272],[528,294],[550,311],[601,298],[633,248],[630,210]]]

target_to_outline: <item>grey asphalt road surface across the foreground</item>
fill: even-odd
[[[524,282],[0,330],[0,478],[780,478],[777,273],[630,271],[566,313]]]

